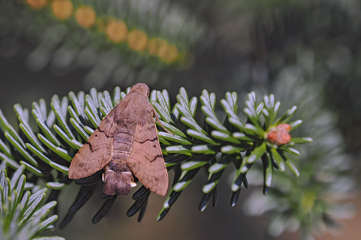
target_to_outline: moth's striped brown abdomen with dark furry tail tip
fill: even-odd
[[[127,129],[122,130],[123,132],[119,131],[114,135],[112,160],[104,168],[104,193],[108,195],[126,196],[130,193],[131,187],[135,187],[138,182],[127,165],[134,136],[129,131],[124,131]]]

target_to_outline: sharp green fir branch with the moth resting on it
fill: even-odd
[[[106,116],[119,101],[130,91],[130,87],[121,92],[119,87],[110,95],[108,91],[97,92],[91,89],[89,94],[79,92],[75,95],[69,92],[68,97],[61,100],[54,95],[51,101],[51,111],[47,113],[45,101],[32,104],[32,114],[36,119],[40,132],[36,135],[28,123],[28,110],[22,109],[19,104],[14,106],[18,116],[21,132],[17,133],[8,124],[0,112],[0,126],[4,132],[6,143],[3,146],[3,159],[12,167],[17,168],[18,162],[37,178],[43,178],[47,187],[52,189],[52,195],[56,199],[59,191],[68,186],[73,180],[67,174],[69,165],[78,149],[88,139],[101,119]],[[291,147],[296,143],[310,142],[310,138],[291,139],[287,144],[278,144],[269,139],[270,131],[290,121],[295,112],[291,108],[277,122],[279,102],[274,102],[274,96],[264,96],[264,102],[257,103],[256,94],[251,92],[245,101],[244,112],[247,115],[247,122],[244,124],[237,117],[237,94],[226,93],[226,98],[221,100],[223,110],[227,117],[223,124],[214,112],[216,96],[203,90],[200,96],[201,110],[204,113],[204,123],[201,127],[195,120],[197,98],[189,100],[184,88],[179,90],[177,102],[173,108],[170,106],[168,92],[153,90],[150,95],[150,102],[156,109],[162,125],[174,135],[165,132],[158,125],[158,137],[161,142],[161,149],[168,171],[174,169],[175,177],[169,191],[168,198],[157,217],[160,221],[169,212],[170,207],[178,199],[182,191],[193,180],[200,168],[205,167],[209,173],[208,182],[204,185],[204,193],[199,210],[203,211],[213,196],[213,206],[217,202],[217,183],[222,176],[224,169],[233,163],[236,166],[237,174],[231,190],[234,192],[231,198],[231,205],[236,203],[239,196],[241,183],[247,187],[247,172],[253,164],[262,158],[264,163],[264,194],[267,194],[271,184],[273,168],[280,168],[285,171],[286,163],[298,177],[298,171],[287,157],[285,152],[298,155],[299,153]],[[69,114],[68,114],[69,113]],[[265,122],[262,123],[260,115],[263,114]],[[177,122],[183,123],[183,131],[177,127]],[[55,124],[54,124],[55,123]],[[295,129],[301,123],[300,120],[292,122],[290,130]],[[158,124],[158,123],[157,123]],[[181,123],[179,123],[181,124]],[[16,149],[16,152],[14,150]],[[241,152],[246,151],[245,157]],[[14,153],[20,153],[14,154]],[[217,162],[216,155],[221,153]],[[57,171],[57,179],[53,179],[50,171]],[[96,174],[75,180],[75,184],[82,185],[73,205],[70,207],[67,216],[62,221],[60,228],[64,228],[75,213],[86,203],[94,193],[97,185],[101,182],[103,171]],[[127,216],[134,216],[140,210],[138,221],[141,221],[145,213],[150,191],[144,186],[132,196],[135,203],[128,210]],[[110,209],[117,196],[102,194],[105,200],[104,205],[94,216],[92,222],[96,223]]]

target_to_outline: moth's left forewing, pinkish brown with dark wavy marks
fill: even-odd
[[[70,163],[69,178],[79,179],[93,175],[103,169],[112,159],[113,134],[117,127],[114,123],[116,108],[99,124],[88,141]]]

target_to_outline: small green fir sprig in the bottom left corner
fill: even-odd
[[[45,219],[56,207],[56,201],[49,201],[42,207],[47,188],[26,182],[24,165],[18,165],[9,179],[6,160],[0,165],[0,228],[1,239],[30,240],[47,229],[55,228],[58,216]],[[24,190],[32,190],[24,192]],[[36,239],[36,237],[35,237]],[[44,240],[64,240],[62,237],[42,237]]]

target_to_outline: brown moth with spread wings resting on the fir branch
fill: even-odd
[[[89,137],[69,167],[69,178],[93,175],[104,168],[104,193],[126,196],[138,180],[164,196],[168,173],[158,141],[157,113],[149,103],[149,87],[134,85]]]

